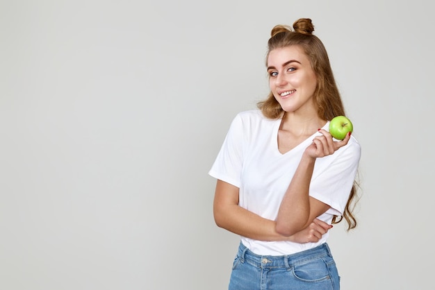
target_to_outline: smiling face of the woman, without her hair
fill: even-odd
[[[270,51],[267,63],[270,90],[284,111],[317,112],[313,98],[317,78],[299,46]]]

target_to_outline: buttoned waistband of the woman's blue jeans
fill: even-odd
[[[305,263],[311,259],[325,257],[326,255],[332,257],[331,250],[327,243],[309,250],[303,250],[299,253],[282,256],[256,255],[241,242],[238,248],[240,262],[247,262],[258,268],[291,268],[297,264]]]

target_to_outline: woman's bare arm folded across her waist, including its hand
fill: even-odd
[[[295,241],[297,243],[316,242],[331,226],[315,219],[312,223],[286,237],[276,230],[276,222],[264,219],[238,205],[238,187],[222,180],[217,180],[213,214],[215,223],[220,227],[243,237],[260,241]]]

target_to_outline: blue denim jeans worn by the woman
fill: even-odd
[[[338,290],[340,277],[327,244],[293,255],[261,256],[240,243],[228,289]]]

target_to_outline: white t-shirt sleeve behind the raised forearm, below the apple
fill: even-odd
[[[336,156],[334,156],[336,155]],[[361,157],[361,146],[352,142],[334,153],[331,162],[313,176],[310,196],[330,205],[329,214],[343,215],[350,190],[354,185]]]

